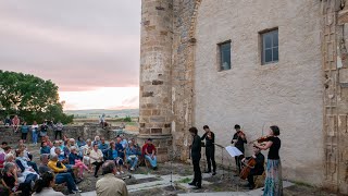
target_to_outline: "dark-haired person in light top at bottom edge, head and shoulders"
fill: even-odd
[[[42,176],[36,181],[34,186],[33,196],[64,196],[61,192],[55,192],[52,187],[54,186],[54,174],[51,172],[46,172]]]

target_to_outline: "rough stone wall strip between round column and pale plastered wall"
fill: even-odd
[[[181,159],[189,156],[194,124],[195,24],[200,0],[174,0],[172,65],[172,134]]]

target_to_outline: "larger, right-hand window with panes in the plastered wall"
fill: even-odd
[[[262,64],[278,62],[278,29],[261,34]]]

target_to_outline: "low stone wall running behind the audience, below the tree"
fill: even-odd
[[[105,137],[107,139],[114,138],[116,135],[125,133],[125,135],[130,137],[132,134],[124,132],[119,126],[107,127],[105,130],[101,128],[98,124],[84,124],[84,125],[67,125],[64,126],[62,135],[66,135],[69,138],[77,139],[78,136],[82,136],[84,139],[90,138],[94,139],[96,135]],[[48,131],[49,137],[54,138],[54,132],[52,130]],[[136,135],[132,135],[136,137]],[[15,144],[21,138],[21,133],[14,133],[11,127],[0,126],[0,142],[8,142],[9,144]],[[27,135],[27,140],[32,143],[32,133]],[[53,139],[52,139],[53,140]]]

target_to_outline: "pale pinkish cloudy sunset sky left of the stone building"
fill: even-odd
[[[139,106],[140,0],[0,0],[0,70],[59,86],[65,110]]]

